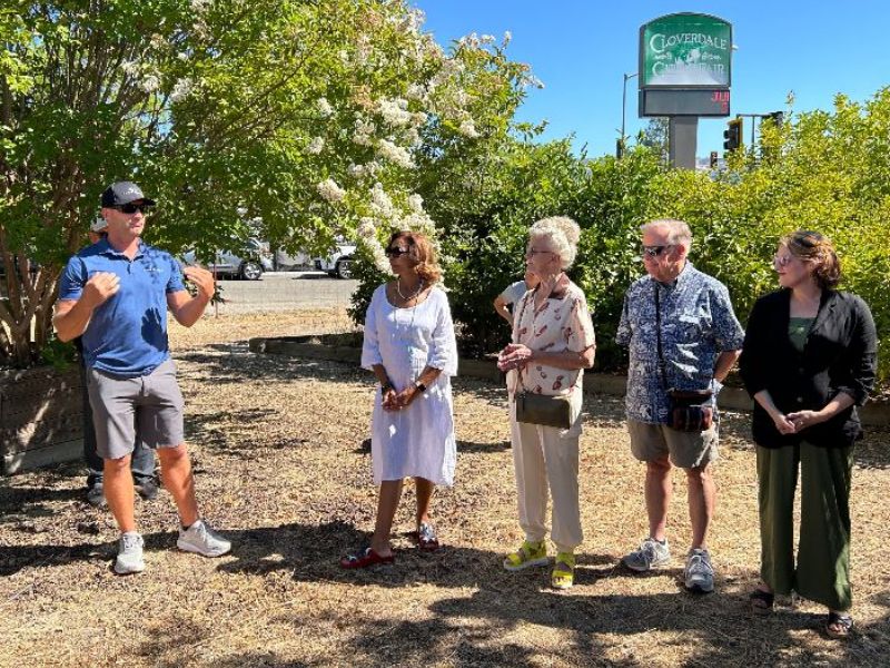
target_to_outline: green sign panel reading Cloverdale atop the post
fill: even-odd
[[[729,86],[732,26],[699,13],[659,17],[640,28],[640,86]]]

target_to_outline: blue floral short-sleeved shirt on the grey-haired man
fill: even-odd
[[[659,372],[655,291],[666,385]],[[716,395],[721,386],[714,380],[716,358],[725,351],[740,350],[744,331],[732,311],[726,286],[686,262],[671,284],[646,275],[631,285],[615,341],[631,353],[627,418],[659,424],[668,422],[668,389],[711,389]]]

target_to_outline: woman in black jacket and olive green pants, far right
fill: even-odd
[[[761,582],[755,612],[792,590],[829,609],[825,632],[846,637],[850,590],[850,477],[862,436],[856,406],[874,383],[877,333],[866,303],[837,292],[840,263],[829,239],[795,232],[773,258],[781,289],[758,299],[739,361],[754,399]],[[793,554],[794,488],[801,521]]]

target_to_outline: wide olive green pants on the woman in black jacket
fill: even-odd
[[[794,566],[794,490],[800,468],[800,542]],[[775,592],[797,591],[831,610],[849,610],[850,477],[853,448],[802,442],[758,445],[760,576]]]

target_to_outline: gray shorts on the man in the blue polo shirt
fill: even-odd
[[[102,459],[127,456],[137,442],[146,448],[176,448],[185,441],[185,402],[172,360],[135,379],[89,369],[87,390],[96,425],[96,452]]]

